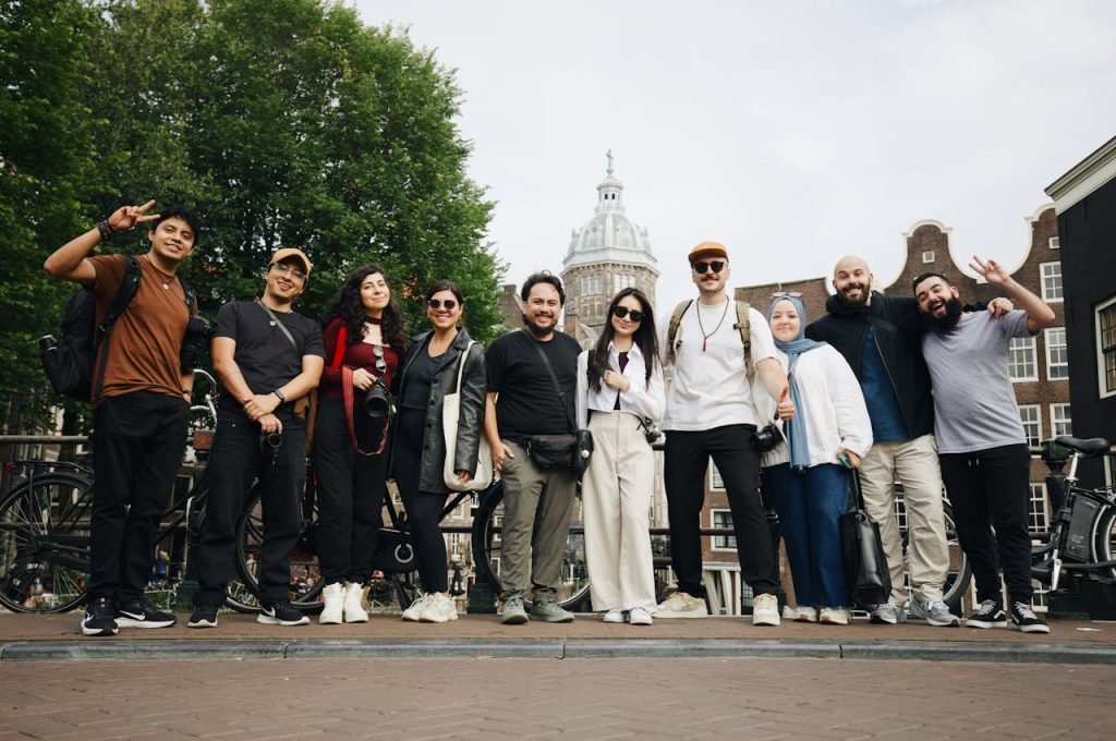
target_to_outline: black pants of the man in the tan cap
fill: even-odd
[[[198,552],[198,605],[223,605],[237,551],[237,520],[254,479],[263,514],[260,602],[288,598],[290,551],[301,532],[299,498],[306,481],[306,431],[283,424],[277,454],[264,453],[258,424],[221,422],[210,452],[210,494]]]

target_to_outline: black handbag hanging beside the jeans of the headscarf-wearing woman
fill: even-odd
[[[839,518],[845,581],[853,603],[857,607],[872,609],[891,597],[892,576],[879,540],[879,526],[864,511],[860,480],[856,470],[849,471],[849,484],[850,508]]]

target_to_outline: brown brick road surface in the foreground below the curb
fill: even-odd
[[[1112,739],[1105,666],[825,660],[0,664],[0,739]]]

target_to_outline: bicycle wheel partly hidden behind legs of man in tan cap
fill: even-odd
[[[290,555],[290,590],[288,597],[291,605],[304,613],[319,613],[321,603],[321,572],[318,570],[318,556],[314,538],[308,537],[316,527],[315,521],[302,523],[302,536]],[[248,503],[237,523],[237,574],[239,586],[230,581],[228,604],[238,612],[256,612],[259,609],[259,580],[257,569],[263,554],[263,510],[260,504],[260,489],[252,487],[248,493]],[[237,590],[234,593],[234,586]]]

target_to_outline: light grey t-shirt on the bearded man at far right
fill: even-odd
[[[988,311],[964,314],[953,331],[923,336],[939,453],[1026,444],[1008,376],[1008,347],[1013,337],[1030,336],[1027,312],[1019,309],[999,319]]]

